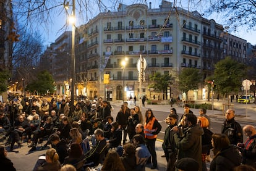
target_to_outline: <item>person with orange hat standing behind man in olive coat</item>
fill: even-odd
[[[207,161],[207,156],[208,156],[208,161],[210,162],[210,149],[212,148],[211,146],[211,135],[213,133],[208,129],[209,127],[209,122],[206,117],[198,117],[198,124],[203,128],[203,135],[202,135],[202,170],[207,171],[207,165],[205,161]]]

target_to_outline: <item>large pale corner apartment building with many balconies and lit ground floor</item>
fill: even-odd
[[[179,14],[179,15],[177,15]],[[76,79],[79,94],[110,101],[138,96],[137,60],[147,60],[142,94],[147,98],[157,92],[148,89],[149,75],[169,73],[177,80],[184,67],[202,70],[203,77],[213,73],[213,65],[223,56],[223,27],[214,20],[203,19],[197,12],[173,9],[162,1],[158,9],[151,4],[120,4],[115,12],[102,12],[76,30]],[[126,65],[122,65],[122,61]],[[110,75],[108,85],[103,74]],[[176,80],[163,99],[177,98]],[[202,99],[203,85],[190,91],[189,99]]]

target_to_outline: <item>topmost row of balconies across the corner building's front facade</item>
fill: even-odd
[[[148,25],[148,28],[162,28],[163,25]],[[164,26],[165,28],[173,28],[173,24],[172,23],[168,23]],[[145,29],[147,28],[147,26],[145,25],[129,25],[129,26],[117,26],[117,27],[104,27],[104,31],[118,31],[118,30],[141,30],[141,29]]]

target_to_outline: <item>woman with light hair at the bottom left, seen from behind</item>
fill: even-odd
[[[36,171],[45,171],[45,170],[51,170],[51,171],[59,171],[61,170],[61,164],[59,163],[59,155],[56,152],[56,149],[51,148],[48,149],[45,153],[45,163],[40,165]]]

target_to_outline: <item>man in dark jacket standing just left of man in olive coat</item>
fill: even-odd
[[[174,141],[174,131],[173,127],[177,125],[177,115],[169,114],[166,118],[166,122],[168,123],[168,127],[166,127],[164,132],[164,141],[162,144],[162,148],[164,150],[164,156],[167,162],[166,170],[174,171],[174,163],[176,161],[177,149]]]

